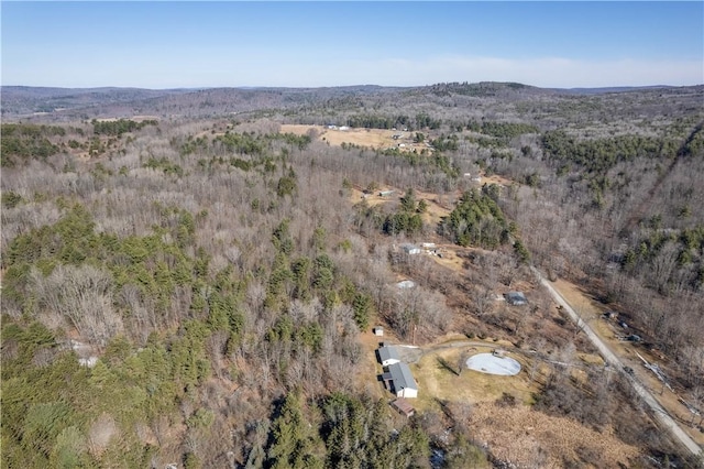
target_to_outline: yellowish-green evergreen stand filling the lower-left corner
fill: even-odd
[[[154,334],[139,350],[116,337],[92,368],[79,366],[66,340],[38,323],[3,323],[7,467],[147,466],[155,448],[134,428],[177,418],[178,403],[193,400],[211,373],[210,331],[198,320],[170,336]],[[208,413],[187,418],[189,432],[207,429]]]

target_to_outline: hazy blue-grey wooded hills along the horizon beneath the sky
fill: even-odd
[[[4,119],[41,118],[54,121],[139,114],[167,117],[212,117],[249,111],[286,110],[300,107],[363,109],[366,103],[435,102],[451,97],[453,106],[472,99],[507,101],[535,97],[596,96],[615,92],[670,91],[674,87],[539,88],[519,83],[440,83],[420,87],[358,85],[321,88],[51,88],[3,86],[1,112]],[[675,88],[676,89],[676,88]],[[696,89],[696,87],[693,87]],[[454,99],[453,98],[453,99]]]

